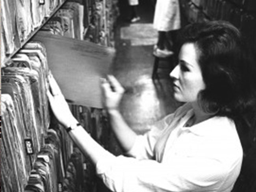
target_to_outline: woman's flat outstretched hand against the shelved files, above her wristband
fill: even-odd
[[[50,106],[59,123],[64,127],[70,127],[71,124],[76,124],[77,120],[72,115],[69,105],[66,102],[59,86],[52,76],[49,75],[50,90],[47,90],[47,96],[50,101]]]

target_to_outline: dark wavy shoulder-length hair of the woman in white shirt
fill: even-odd
[[[206,89],[198,94],[204,111],[232,119],[254,107],[256,64],[239,30],[229,22],[189,24],[181,45],[194,43]]]

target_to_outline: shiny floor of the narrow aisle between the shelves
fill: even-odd
[[[122,1],[121,1],[122,2]],[[154,56],[153,46],[158,33],[153,29],[154,7],[141,0],[136,23],[124,22],[129,10],[122,4],[121,17],[115,31],[117,50],[113,74],[126,89],[121,102],[121,113],[128,124],[138,133],[144,132],[148,124],[172,113],[180,103],[172,98],[171,63],[161,63],[159,80],[152,80]]]

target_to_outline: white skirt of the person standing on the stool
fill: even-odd
[[[157,0],[153,24],[158,31],[180,29],[179,0]]]

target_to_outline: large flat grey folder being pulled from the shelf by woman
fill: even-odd
[[[39,31],[32,41],[46,47],[50,70],[66,99],[78,105],[102,108],[100,78],[109,73],[115,50]]]

